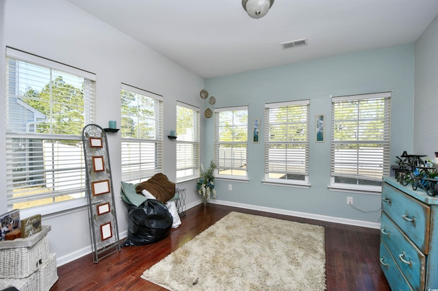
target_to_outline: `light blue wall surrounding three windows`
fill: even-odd
[[[290,51],[293,53],[293,51]],[[255,60],[257,61],[257,60]],[[265,70],[207,79],[205,87],[215,96],[214,107],[249,105],[248,119],[261,120],[261,142],[248,144],[249,182],[218,180],[218,199],[320,214],[329,217],[378,222],[379,212],[365,213],[346,205],[352,196],[363,210],[380,208],[380,195],[329,191],[331,96],[392,91],[391,161],[403,150],[413,149],[413,44],[306,61]],[[271,186],[263,179],[264,103],[310,100],[310,189]],[[206,107],[207,107],[206,103]],[[315,143],[315,115],[326,116],[326,142]],[[205,119],[203,161],[214,157],[214,118]],[[228,184],[233,191],[228,191]]]

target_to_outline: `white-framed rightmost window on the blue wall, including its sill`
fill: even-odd
[[[346,105],[354,102],[357,107],[348,113],[349,118],[340,116],[343,102]],[[372,102],[383,102],[383,105],[374,107]],[[360,105],[369,107],[359,109]],[[352,106],[346,108],[351,111]],[[381,126],[378,130],[363,130],[371,122]],[[389,176],[390,168],[391,92],[332,97],[331,127],[329,189],[380,195],[382,178]],[[350,137],[343,137],[342,133]],[[375,147],[376,144],[381,146]],[[344,154],[340,151],[344,151]],[[355,183],[339,182],[342,179]]]

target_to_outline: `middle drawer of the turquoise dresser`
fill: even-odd
[[[381,240],[414,290],[424,290],[426,255],[383,212]]]

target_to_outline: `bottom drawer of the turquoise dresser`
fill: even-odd
[[[388,249],[385,247],[385,244],[381,240],[381,266],[382,271],[385,274],[385,277],[391,287],[391,290],[402,290],[409,291],[413,290],[406,278],[403,276],[402,272],[398,268],[396,262],[394,262],[394,258],[392,258],[391,254],[389,254]]]

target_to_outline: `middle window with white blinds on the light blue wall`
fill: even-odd
[[[265,105],[265,179],[307,184],[309,100]]]

